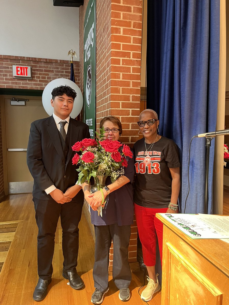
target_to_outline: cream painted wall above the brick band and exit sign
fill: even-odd
[[[1,0],[0,54],[79,60],[79,9],[53,0]]]

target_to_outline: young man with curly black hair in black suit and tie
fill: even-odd
[[[76,92],[68,86],[52,91],[51,117],[31,124],[27,165],[34,178],[33,201],[38,225],[38,284],[33,299],[43,300],[53,273],[54,238],[60,217],[63,277],[74,289],[84,283],[76,271],[79,235],[78,224],[83,206],[83,192],[76,184],[78,172],[72,165],[77,141],[90,138],[89,127],[70,117]]]

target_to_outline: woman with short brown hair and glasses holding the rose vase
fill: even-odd
[[[122,134],[122,124],[117,117],[104,117],[100,122],[100,128],[104,127],[105,139],[117,141]],[[120,148],[120,150],[122,147]],[[102,217],[98,216],[97,208],[102,203],[100,191],[89,193],[89,185],[82,185],[85,199],[91,206],[91,222],[95,229],[95,263],[93,279],[95,291],[91,302],[100,304],[104,294],[109,290],[108,265],[111,241],[113,240],[113,280],[119,289],[119,299],[127,301],[130,298],[129,284],[131,270],[128,262],[128,246],[130,239],[130,225],[133,223],[133,178],[134,158],[127,157],[127,167],[124,167],[124,175],[111,183],[110,177],[103,188],[104,199],[109,194],[109,200],[105,205]]]

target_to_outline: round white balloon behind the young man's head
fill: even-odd
[[[70,117],[75,119],[83,107],[83,95],[77,84],[75,84],[73,81],[70,81],[67,78],[57,78],[54,79],[53,81],[50,81],[50,83],[46,85],[42,94],[42,104],[48,115],[49,116],[53,115],[53,106],[51,106],[51,99],[52,99],[51,93],[54,88],[65,85],[71,87],[76,92],[76,98],[74,100],[73,109],[70,114]]]

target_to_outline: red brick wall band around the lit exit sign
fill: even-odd
[[[32,66],[32,79],[16,79],[12,77],[15,64]],[[79,62],[74,62],[75,81],[80,86]],[[70,78],[70,61],[34,58],[22,56],[0,55],[0,88],[43,90],[56,78]],[[0,109],[0,197],[4,194],[2,160],[2,132]]]

